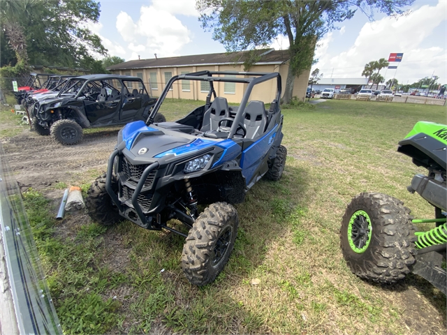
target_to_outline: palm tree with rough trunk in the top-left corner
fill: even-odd
[[[15,52],[17,63],[24,65],[28,61],[27,40],[20,20],[27,17],[38,4],[44,0],[1,0],[0,19],[8,43]]]

